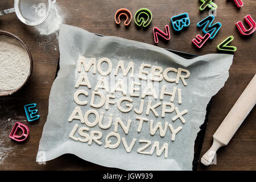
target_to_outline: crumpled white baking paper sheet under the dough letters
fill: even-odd
[[[115,36],[96,36],[88,31],[82,30],[81,28],[72,27],[63,24],[60,28],[59,36],[60,46],[60,70],[57,74],[56,80],[53,82],[51,94],[49,96],[49,111],[47,122],[44,125],[42,138],[39,144],[39,151],[37,156],[37,162],[43,162],[52,160],[63,154],[74,154],[84,160],[100,164],[106,167],[115,167],[127,170],[192,170],[192,161],[194,154],[194,144],[197,133],[200,130],[200,125],[203,124],[206,114],[206,107],[210,98],[214,96],[218,90],[224,86],[225,81],[229,77],[229,68],[232,64],[233,55],[226,54],[210,54],[196,57],[195,59],[184,59],[174,53],[168,52],[163,48],[152,46],[145,43],[135,42],[133,40],[122,39]],[[115,104],[109,105],[109,110],[105,109],[105,106],[95,109],[90,106],[90,100],[92,91],[101,78],[99,72],[96,69],[96,74],[93,74],[93,68],[89,72],[82,72],[88,75],[90,84],[92,86],[89,89],[87,86],[79,86],[75,88],[77,79],[81,73],[77,71],[80,56],[84,56],[86,63],[90,59],[95,58],[96,61],[107,57],[112,61],[113,68],[110,75],[105,76],[108,78],[110,88],[113,88],[113,84],[118,78],[122,78],[127,81],[128,88],[131,86],[131,77],[123,76],[121,69],[119,69],[118,76],[114,76],[115,68],[117,67],[118,61],[123,60],[125,68],[130,61],[134,63],[134,80],[141,82],[141,92],[139,97],[130,97],[129,90],[127,95],[123,96],[121,92],[115,92]],[[147,81],[138,79],[139,67],[141,64],[149,64],[162,67],[163,70],[166,68],[183,68],[190,72],[190,76],[185,79],[187,86],[184,86],[180,80],[179,84],[175,82],[167,82],[163,79],[160,82],[154,82],[154,88],[157,99],[152,96],[146,96],[144,98],[144,110],[142,114],[136,114],[134,108],[138,109],[141,102],[141,94],[144,90]],[[102,70],[106,71],[107,64],[102,64]],[[145,71],[151,72],[151,68],[144,68]],[[131,72],[130,72],[131,73]],[[184,73],[183,73],[184,74]],[[145,75],[144,75],[145,76]],[[168,75],[169,77],[176,77],[175,74]],[[131,79],[131,80],[129,80]],[[114,83],[113,83],[114,80]],[[148,81],[151,82],[151,81]],[[177,95],[175,100],[172,102],[179,111],[188,110],[187,114],[182,115],[185,119],[185,123],[182,123],[180,119],[172,121],[172,118],[176,116],[176,112],[166,113],[165,117],[162,114],[162,105],[156,107],[156,111],[159,116],[155,115],[150,111],[149,115],[145,114],[146,106],[148,101],[152,101],[152,105],[157,102],[170,102],[171,96],[164,96],[163,100],[159,100],[160,91],[162,86],[166,85],[166,91],[172,92],[174,87],[181,89],[182,103],[178,104]],[[83,89],[88,92],[88,96],[80,96],[81,101],[87,101],[88,104],[79,106],[73,100],[74,93]],[[104,89],[99,89],[98,92],[103,93],[106,96]],[[133,102],[123,102],[125,104],[132,104],[133,110],[128,113],[122,113],[117,109],[117,100],[122,97],[132,98]],[[96,102],[97,99],[96,99]],[[103,130],[98,125],[94,127],[88,127],[85,123],[81,123],[80,120],[73,119],[69,122],[68,119],[71,116],[75,107],[79,106],[82,111],[82,115],[90,109],[96,110],[99,114],[104,112],[103,123],[109,121],[109,115],[113,114],[112,126]],[[138,132],[139,121],[136,117],[147,118],[147,122],[143,122],[141,132]],[[123,146],[122,140],[117,148],[110,149],[105,148],[105,138],[109,133],[114,132],[115,118],[120,118],[125,125],[128,119],[131,119],[131,125],[129,133],[125,134],[122,127],[118,125],[117,133],[121,138],[125,138],[128,146],[131,141],[135,138],[136,142],[130,153],[126,152]],[[89,115],[89,120],[94,121],[95,117],[93,114]],[[171,130],[168,128],[166,135],[160,137],[159,129],[155,135],[150,134],[150,121],[154,121],[154,127],[157,122],[161,122],[164,127],[164,123],[170,123],[174,129],[182,127],[179,133],[176,134],[175,140],[171,140]],[[75,141],[69,137],[73,127],[75,125],[80,127],[88,127],[89,131],[85,133],[90,134],[90,131],[100,131],[102,138],[101,145],[96,142],[92,142],[89,145],[88,142]],[[74,134],[74,137],[78,138],[78,130]],[[82,138],[80,136],[80,138]],[[117,142],[115,137],[110,137],[112,144]],[[157,156],[156,151],[152,155],[139,154],[137,150],[144,146],[145,143],[140,143],[139,140],[150,140],[152,144],[144,150],[144,152],[150,152],[154,142],[159,142],[161,148],[164,143],[168,144],[168,157],[164,158],[164,152],[162,155]]]

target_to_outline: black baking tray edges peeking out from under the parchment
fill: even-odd
[[[104,36],[104,35],[100,35],[100,34],[96,34],[98,36]],[[185,59],[193,59],[195,57],[197,57],[198,55],[193,55],[191,53],[186,53],[186,52],[181,52],[181,51],[175,51],[172,49],[166,49],[167,51],[170,51],[172,53],[175,53],[176,55],[179,55],[181,57],[184,57]],[[59,61],[58,61],[58,65],[57,65],[57,70],[56,70],[56,75],[55,78],[57,77],[57,72],[60,69],[60,57],[59,57]],[[201,148],[203,146],[203,142],[204,142],[204,135],[205,135],[205,130],[207,127],[207,123],[208,123],[208,118],[209,118],[209,113],[210,113],[210,107],[212,105],[212,100],[210,100],[210,102],[207,105],[207,114],[205,115],[205,120],[203,125],[200,126],[200,131],[197,134],[196,140],[195,140],[195,146],[194,146],[194,159],[193,159],[193,171],[196,171],[197,169],[197,164],[200,161],[200,153],[201,153]]]

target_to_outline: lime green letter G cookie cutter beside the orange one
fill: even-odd
[[[146,8],[139,9],[134,15],[134,22],[137,26],[147,27],[152,20],[152,13]]]

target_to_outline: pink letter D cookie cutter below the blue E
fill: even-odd
[[[21,135],[18,135],[19,129],[22,131]],[[16,122],[13,126],[13,129],[11,130],[9,137],[18,142],[22,142],[28,137],[29,133],[30,133],[30,129],[28,129],[28,127],[26,125],[24,125],[23,123],[20,123],[20,122]]]

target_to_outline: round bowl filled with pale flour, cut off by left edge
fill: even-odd
[[[0,97],[17,92],[32,72],[32,56],[17,36],[0,31]]]

